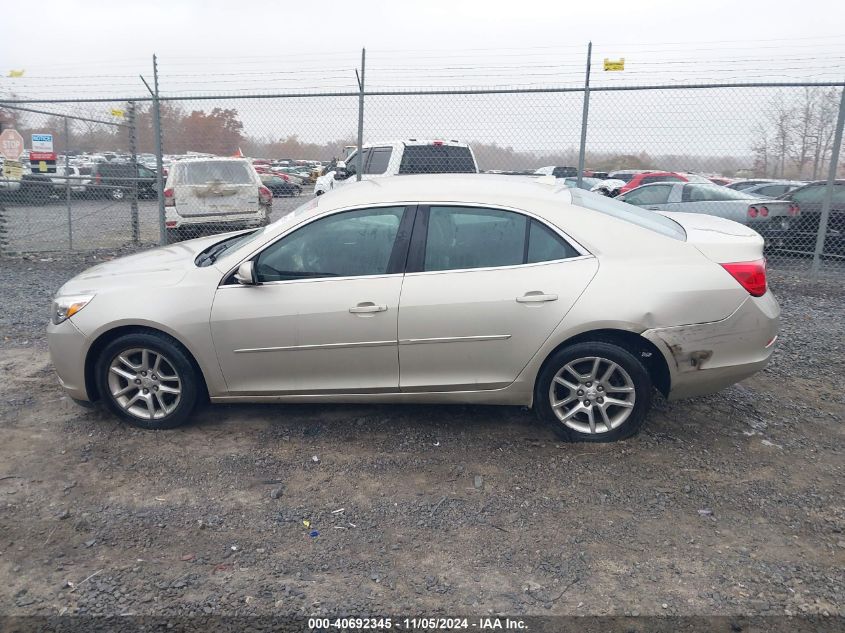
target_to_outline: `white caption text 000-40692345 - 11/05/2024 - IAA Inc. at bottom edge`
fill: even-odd
[[[361,631],[378,629],[400,629],[403,631],[519,631],[527,629],[523,620],[517,618],[309,618],[311,631]]]

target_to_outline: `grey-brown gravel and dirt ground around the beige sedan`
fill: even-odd
[[[841,279],[775,275],[765,372],[585,446],[516,408],[123,426],[46,352],[51,294],[91,263],[0,260],[1,612],[845,613]]]

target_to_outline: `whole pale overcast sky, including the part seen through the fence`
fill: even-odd
[[[351,91],[363,46],[370,89],[575,87],[583,85],[589,40],[594,86],[845,79],[841,0],[41,0],[37,6],[8,0],[0,9],[0,98],[143,96],[138,73],[151,77],[153,53],[165,95]],[[604,72],[606,57],[624,57],[625,71]],[[24,76],[9,78],[10,70]],[[597,94],[590,140],[608,149],[673,151],[694,139],[702,151],[745,151],[770,94]],[[365,129],[368,139],[456,135],[551,150],[577,143],[580,104],[576,94],[373,98]],[[357,108],[354,99],[185,105],[237,107],[250,133],[315,141],[354,133]],[[663,128],[662,137],[656,128]],[[716,128],[721,135],[711,133]]]

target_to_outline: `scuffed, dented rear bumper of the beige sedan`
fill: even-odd
[[[669,399],[715,393],[763,369],[777,341],[780,306],[771,291],[748,297],[712,323],[643,332],[663,352],[671,376]]]

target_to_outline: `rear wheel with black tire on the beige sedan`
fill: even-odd
[[[534,410],[566,442],[613,442],[640,430],[652,393],[648,371],[628,350],[610,342],[576,343],[555,352],[544,365],[535,385]]]

